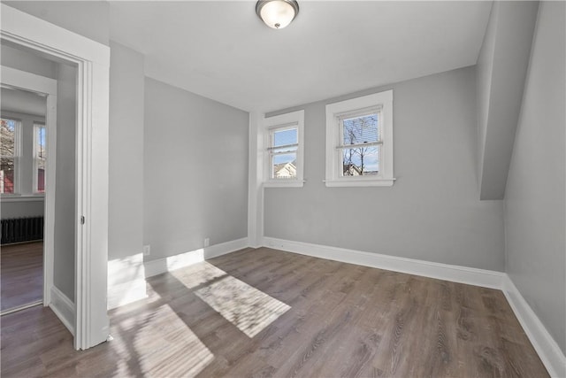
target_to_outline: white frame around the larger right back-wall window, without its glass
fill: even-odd
[[[346,115],[379,112],[381,148],[379,174],[375,176],[344,176],[341,156],[341,121]],[[326,187],[390,187],[393,174],[393,90],[353,98],[326,105]]]

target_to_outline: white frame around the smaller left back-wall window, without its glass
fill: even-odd
[[[304,111],[288,112],[285,114],[264,118],[264,187],[265,188],[302,188],[304,184]],[[297,129],[297,158],[296,158],[296,177],[290,179],[272,178],[272,133],[274,131],[290,128]]]

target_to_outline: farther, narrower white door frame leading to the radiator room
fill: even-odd
[[[3,84],[46,95],[45,134],[47,150],[57,150],[57,81],[6,66],[1,66],[0,73]],[[51,303],[51,288],[53,287],[55,173],[56,159],[50,158],[47,160],[45,169],[45,209],[43,214],[45,220],[43,232],[43,305],[45,306]]]

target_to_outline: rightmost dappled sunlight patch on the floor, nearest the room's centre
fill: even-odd
[[[227,274],[195,290],[195,295],[249,337],[256,336],[291,308]]]

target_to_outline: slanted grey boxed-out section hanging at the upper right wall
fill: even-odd
[[[493,4],[478,59],[480,199],[505,197],[538,10],[537,2]]]

